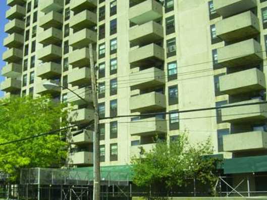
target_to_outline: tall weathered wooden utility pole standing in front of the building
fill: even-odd
[[[90,70],[91,70],[91,85],[92,98],[94,106],[94,132],[93,132],[93,200],[100,200],[100,152],[99,152],[99,134],[98,134],[98,101],[96,91],[96,73],[93,60],[93,47],[89,44]]]

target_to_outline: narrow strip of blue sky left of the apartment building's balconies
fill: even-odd
[[[2,54],[6,50],[6,47],[3,46],[3,40],[7,36],[4,32],[5,24],[8,22],[6,20],[6,11],[8,10],[8,6],[6,4],[6,0],[0,0],[0,70],[2,70],[3,66],[5,66],[5,62],[2,60]],[[4,77],[0,76],[0,82],[4,80]],[[0,91],[0,97],[2,97],[4,93]]]

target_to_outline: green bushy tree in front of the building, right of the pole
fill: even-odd
[[[140,149],[140,155],[131,160],[137,186],[164,185],[169,192],[173,187],[187,186],[189,179],[195,178],[213,189],[218,179],[220,160],[204,156],[213,153],[210,139],[191,145],[185,132],[169,144],[158,141],[149,152]]]

